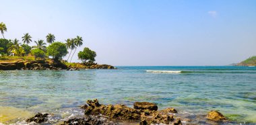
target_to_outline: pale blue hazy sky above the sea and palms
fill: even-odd
[[[46,41],[51,33],[65,42],[82,36],[73,62],[84,47],[96,51],[97,63],[115,66],[230,65],[256,55],[255,0],[0,3],[7,39],[22,41],[29,33],[33,41]]]

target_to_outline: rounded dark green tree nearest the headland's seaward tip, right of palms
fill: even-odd
[[[86,63],[87,60],[89,62],[94,62],[96,56],[97,56],[96,52],[94,52],[93,50],[90,50],[90,48],[87,48],[87,47],[84,48],[83,51],[80,51],[78,53],[78,58],[82,60],[83,63]]]

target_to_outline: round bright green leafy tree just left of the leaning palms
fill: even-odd
[[[53,42],[46,48],[47,55],[53,56],[54,60],[59,60],[67,54],[66,45],[61,42]]]

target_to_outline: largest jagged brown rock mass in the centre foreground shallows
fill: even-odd
[[[157,111],[157,106],[149,102],[135,102],[134,107],[129,108],[125,105],[101,105],[97,99],[88,100],[87,104],[82,106],[85,110],[84,114],[104,115],[110,120],[140,120],[140,124],[181,124],[181,120],[174,118],[170,112],[176,111],[170,108],[165,111]],[[177,111],[176,111],[177,112]]]

